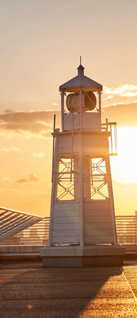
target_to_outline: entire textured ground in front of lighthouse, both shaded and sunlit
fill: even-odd
[[[0,263],[0,281],[1,318],[137,317],[137,261],[122,268]]]

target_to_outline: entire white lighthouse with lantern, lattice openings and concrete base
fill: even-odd
[[[117,245],[109,156],[116,123],[101,123],[102,85],[78,75],[59,87],[62,129],[54,115],[52,193],[43,266],[122,265]],[[66,99],[66,105],[65,100]],[[109,140],[110,139],[110,140]]]

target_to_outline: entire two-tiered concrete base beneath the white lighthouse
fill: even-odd
[[[123,246],[45,246],[41,249],[44,267],[122,266]]]

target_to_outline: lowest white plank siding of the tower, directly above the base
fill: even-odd
[[[110,201],[84,203],[85,244],[113,243]],[[54,204],[52,244],[80,244],[79,202]]]

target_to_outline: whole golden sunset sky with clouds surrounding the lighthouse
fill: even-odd
[[[137,211],[136,0],[1,0],[0,206],[50,214],[59,86],[102,84],[102,122],[117,122],[110,158],[116,215]]]

